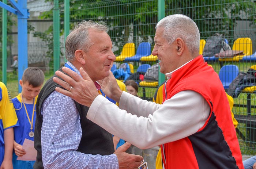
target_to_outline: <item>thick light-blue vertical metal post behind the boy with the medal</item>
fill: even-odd
[[[27,0],[19,0],[18,5],[23,10],[27,10]],[[27,16],[17,14],[18,16],[18,79],[22,79],[22,74],[27,68]],[[19,85],[19,93],[22,87]]]

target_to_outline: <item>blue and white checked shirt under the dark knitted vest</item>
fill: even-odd
[[[80,75],[70,62],[68,65]],[[79,112],[70,97],[52,92],[45,99],[41,114],[42,161],[45,169],[118,169],[116,154],[91,155],[76,151],[82,129]]]

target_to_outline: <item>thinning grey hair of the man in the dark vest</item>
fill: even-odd
[[[75,51],[78,49],[85,52],[89,51],[92,45],[89,29],[107,32],[108,27],[91,20],[83,20],[77,23],[65,42],[65,56],[68,61],[72,61],[75,58]]]

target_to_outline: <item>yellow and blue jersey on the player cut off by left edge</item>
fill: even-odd
[[[5,84],[0,82],[0,146],[4,145],[4,130],[18,125],[10,94]]]

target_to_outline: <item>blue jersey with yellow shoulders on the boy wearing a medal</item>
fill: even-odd
[[[35,104],[37,103],[37,97],[35,97],[34,99],[34,104],[25,103],[25,106],[24,106],[22,102],[21,93],[19,93],[18,96],[12,99],[12,103],[14,104],[16,115],[19,120],[19,126],[14,127],[14,140],[20,145],[23,145],[25,138],[31,141],[34,141],[34,137],[30,137],[29,133],[31,131],[34,132],[35,130],[34,129],[35,119],[36,119]],[[33,109],[34,109],[34,114],[33,114]],[[29,115],[29,118],[27,117],[27,114]],[[32,130],[31,130],[31,122],[33,123]]]

